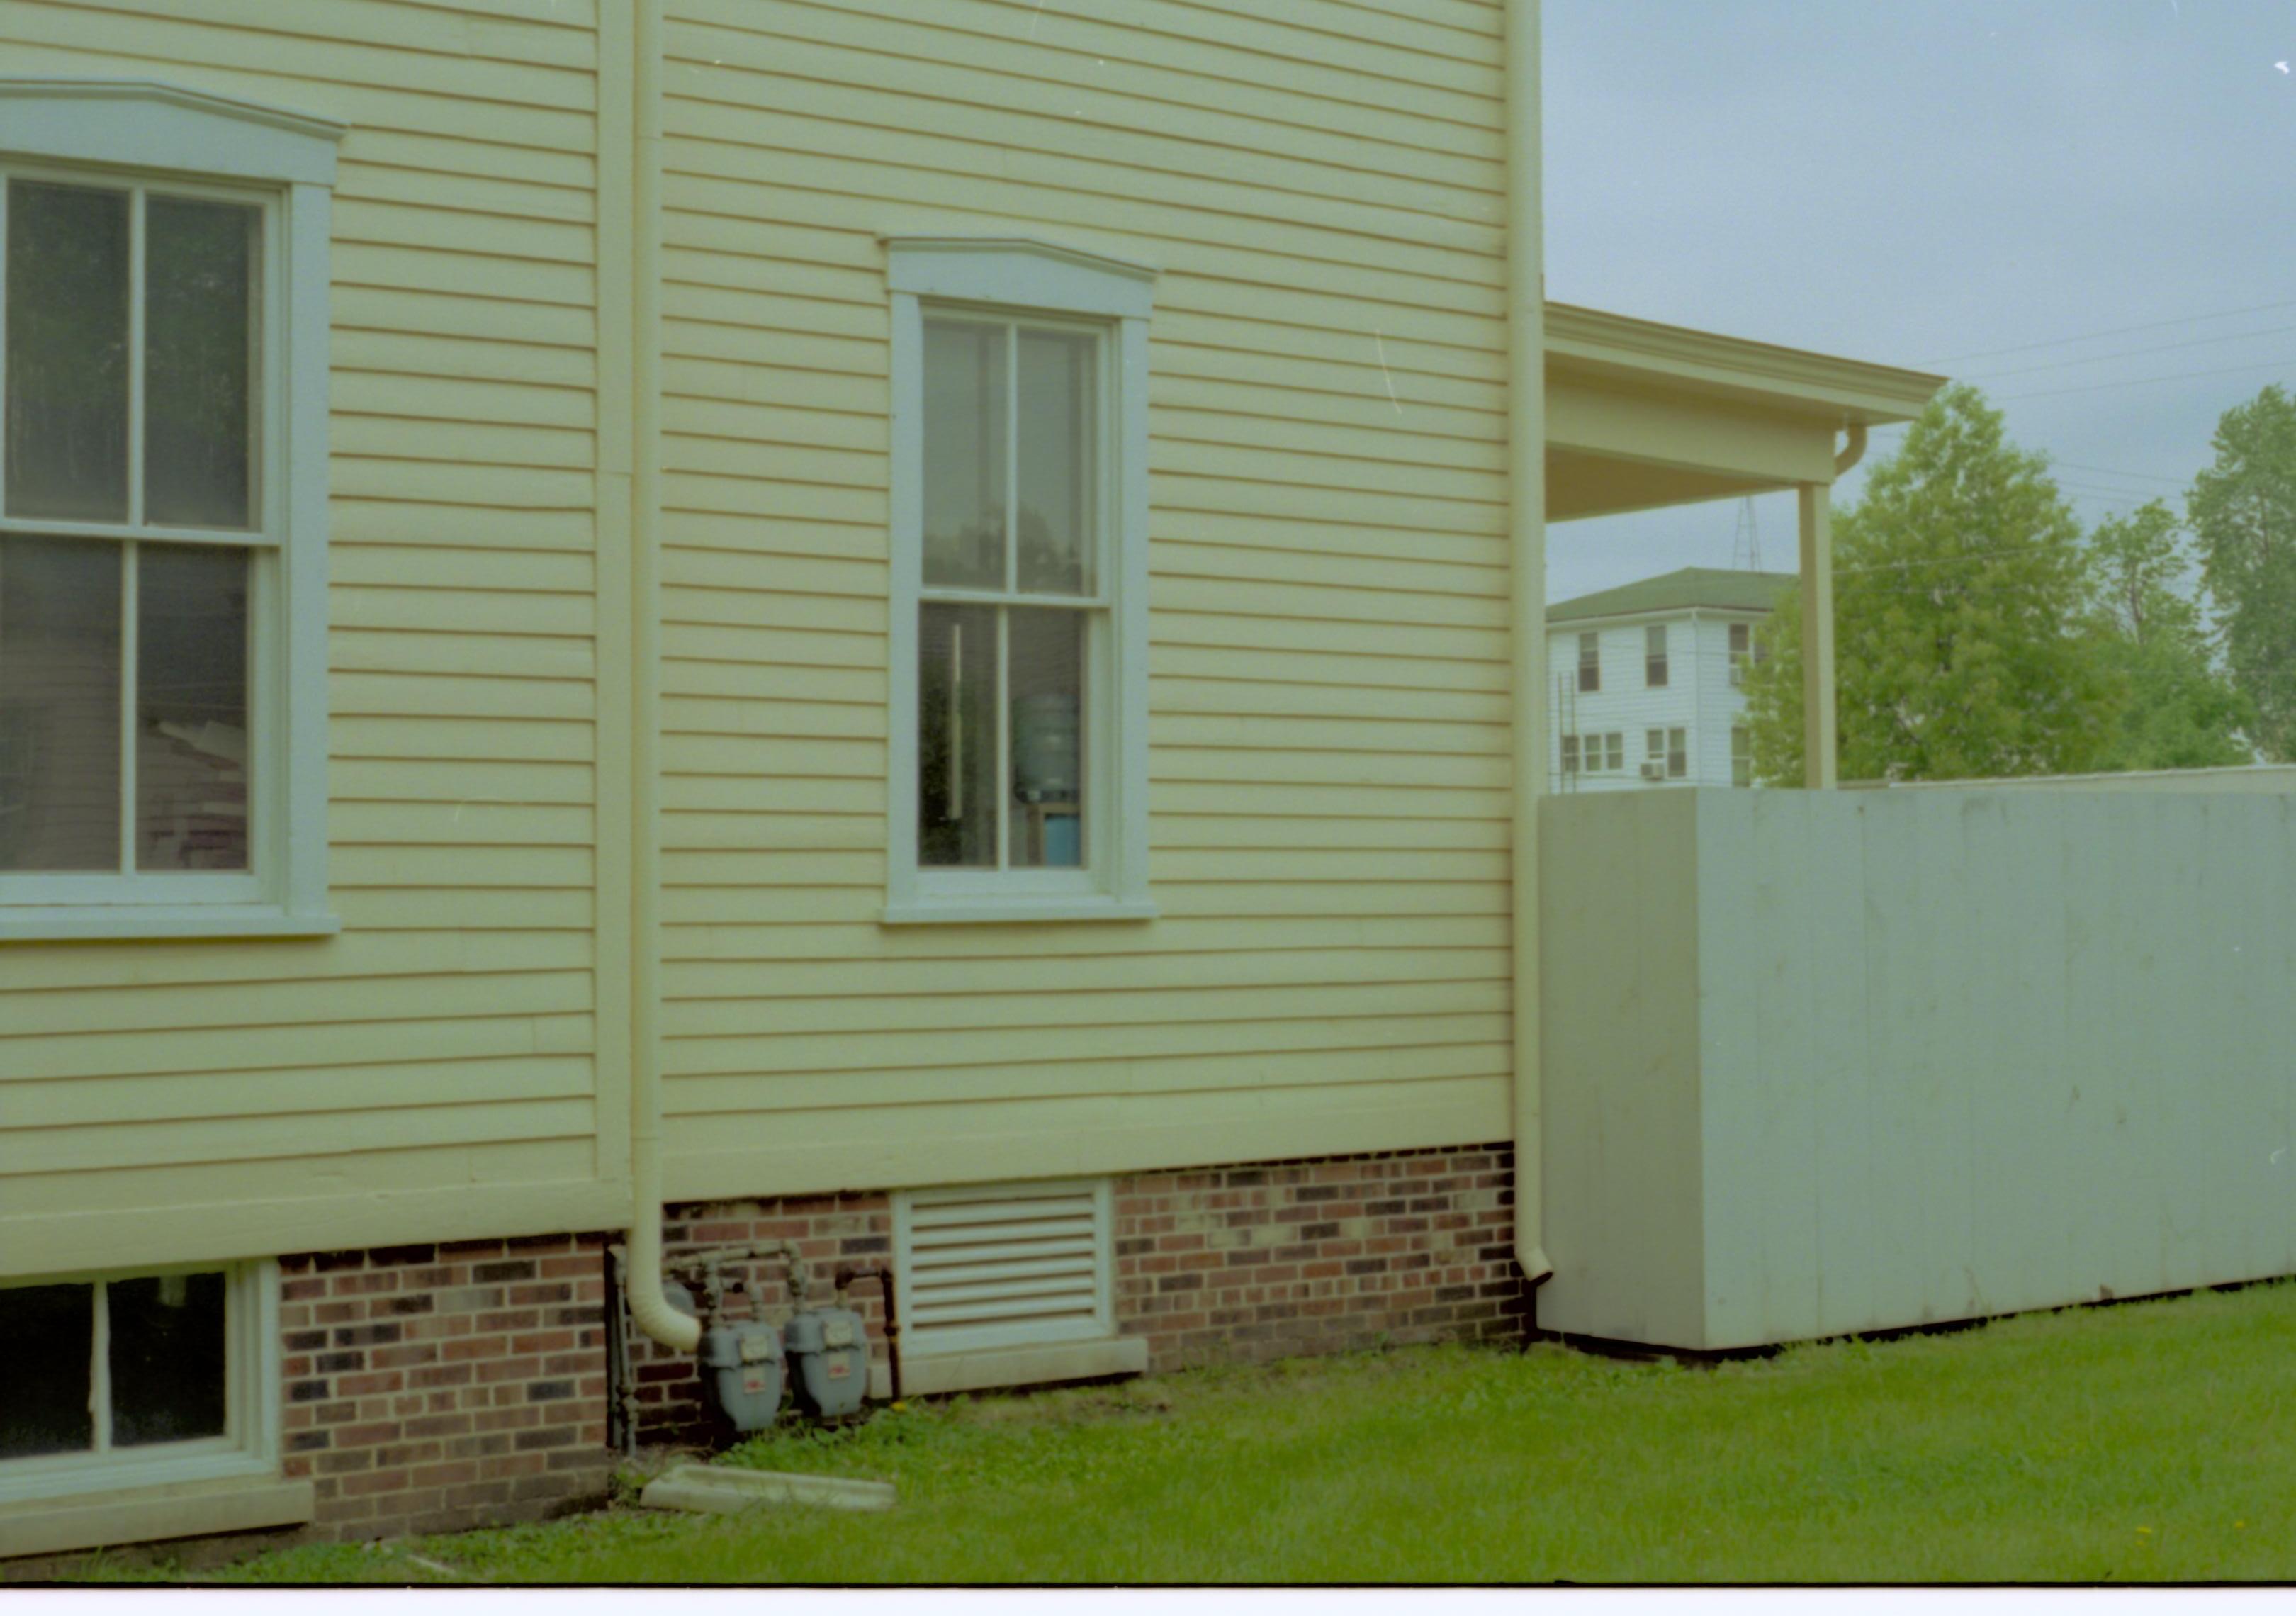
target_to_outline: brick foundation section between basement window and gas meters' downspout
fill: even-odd
[[[606,1235],[280,1258],[282,1462],[315,1533],[533,1520],[606,1487]]]

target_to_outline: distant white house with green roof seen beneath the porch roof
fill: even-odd
[[[1743,673],[1793,581],[1683,567],[1550,606],[1550,787],[1752,785]]]

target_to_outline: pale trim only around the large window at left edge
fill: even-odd
[[[278,551],[276,585],[250,601],[264,615],[257,640],[271,647],[250,670],[266,709],[250,737],[253,877],[0,875],[0,941],[340,930],[326,909],[326,298],[342,133],[328,119],[174,85],[0,78],[0,158],[262,186],[273,197],[266,250],[282,264],[266,282],[280,301],[269,328],[282,351],[266,365],[278,386],[266,498],[278,500],[280,537],[250,544]]]

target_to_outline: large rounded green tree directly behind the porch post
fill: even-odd
[[[1841,778],[2078,774],[2112,744],[2128,684],[2092,627],[2089,553],[2039,454],[1945,388],[1835,514]],[[1802,622],[1789,595],[1747,673],[1754,771],[1802,778]]]

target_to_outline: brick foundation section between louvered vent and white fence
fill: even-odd
[[[1150,1368],[1520,1336],[1513,1150],[1116,1180],[1116,1327]]]

